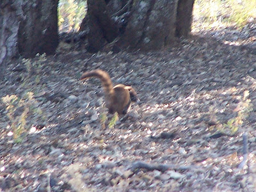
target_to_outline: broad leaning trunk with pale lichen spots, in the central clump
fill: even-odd
[[[135,1],[121,44],[144,51],[170,44],[175,35],[176,10],[177,1]]]

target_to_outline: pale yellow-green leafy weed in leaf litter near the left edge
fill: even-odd
[[[13,139],[16,143],[20,143],[33,122],[27,121],[28,115],[32,116],[32,120],[44,119],[42,110],[38,108],[32,92],[24,94],[22,98],[17,95],[6,95],[2,97],[2,101],[6,106]]]

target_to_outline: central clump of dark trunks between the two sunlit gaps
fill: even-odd
[[[81,29],[88,27],[89,49],[93,47],[95,52],[117,36],[118,47],[161,49],[175,37],[189,35],[194,1],[88,0]]]

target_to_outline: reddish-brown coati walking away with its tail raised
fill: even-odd
[[[103,70],[84,72],[80,80],[82,81],[90,77],[97,77],[101,80],[105,93],[106,107],[109,113],[117,112],[119,115],[125,115],[131,109],[131,102],[139,101],[135,90],[131,86],[117,84],[113,87],[108,73]]]

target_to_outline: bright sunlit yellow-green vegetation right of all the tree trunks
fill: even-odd
[[[256,0],[196,0],[193,15],[193,28],[243,28],[256,18]]]

